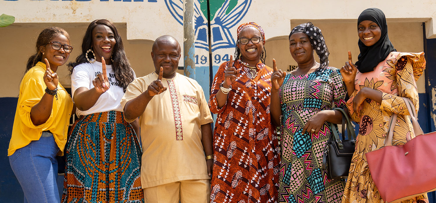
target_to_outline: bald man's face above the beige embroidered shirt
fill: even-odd
[[[151,57],[157,74],[159,74],[160,67],[162,67],[164,69],[163,77],[173,78],[181,57],[180,44],[170,36],[157,38],[153,44]]]

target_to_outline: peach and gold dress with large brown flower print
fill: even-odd
[[[424,53],[391,52],[371,72],[356,74],[355,90],[347,102],[351,118],[359,123],[356,151],[345,184],[342,203],[383,203],[372,180],[365,153],[385,145],[388,121],[392,113],[398,114],[394,128],[393,145],[401,145],[415,137],[412,124],[406,115],[409,112],[401,97],[408,97],[418,112],[416,81],[426,68]],[[361,117],[353,111],[353,99],[364,87],[383,93],[381,104],[366,99],[362,104]],[[427,195],[403,203],[428,203]]]

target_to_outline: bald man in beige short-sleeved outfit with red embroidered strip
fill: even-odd
[[[208,203],[213,165],[213,122],[197,81],[176,73],[174,37],[158,37],[155,72],[136,78],[121,100],[127,122],[140,117],[141,184],[146,203]]]

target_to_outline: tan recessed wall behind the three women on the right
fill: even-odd
[[[329,49],[329,63],[331,67],[341,68],[348,60],[348,50],[351,51],[353,61],[357,61],[360,53],[358,47],[357,23],[336,20],[311,20],[321,29]],[[307,21],[292,20],[291,27]],[[290,32],[290,30],[289,30]],[[288,32],[288,33],[289,33]],[[268,34],[268,33],[266,33]],[[400,52],[422,52],[424,42],[422,23],[388,23],[388,35],[395,49]],[[286,70],[290,65],[296,66],[289,52],[288,36],[275,37],[265,43],[267,51],[266,65],[272,67],[272,58],[276,59],[277,67]],[[318,57],[315,55],[317,61]],[[418,80],[418,92],[425,93],[424,76]]]

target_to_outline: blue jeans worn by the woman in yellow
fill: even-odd
[[[12,171],[24,192],[24,203],[60,203],[58,192],[59,147],[53,136],[41,136],[9,156]]]

